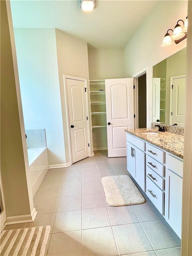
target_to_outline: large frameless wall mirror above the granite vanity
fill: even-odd
[[[153,122],[184,127],[186,48],[153,67]]]

